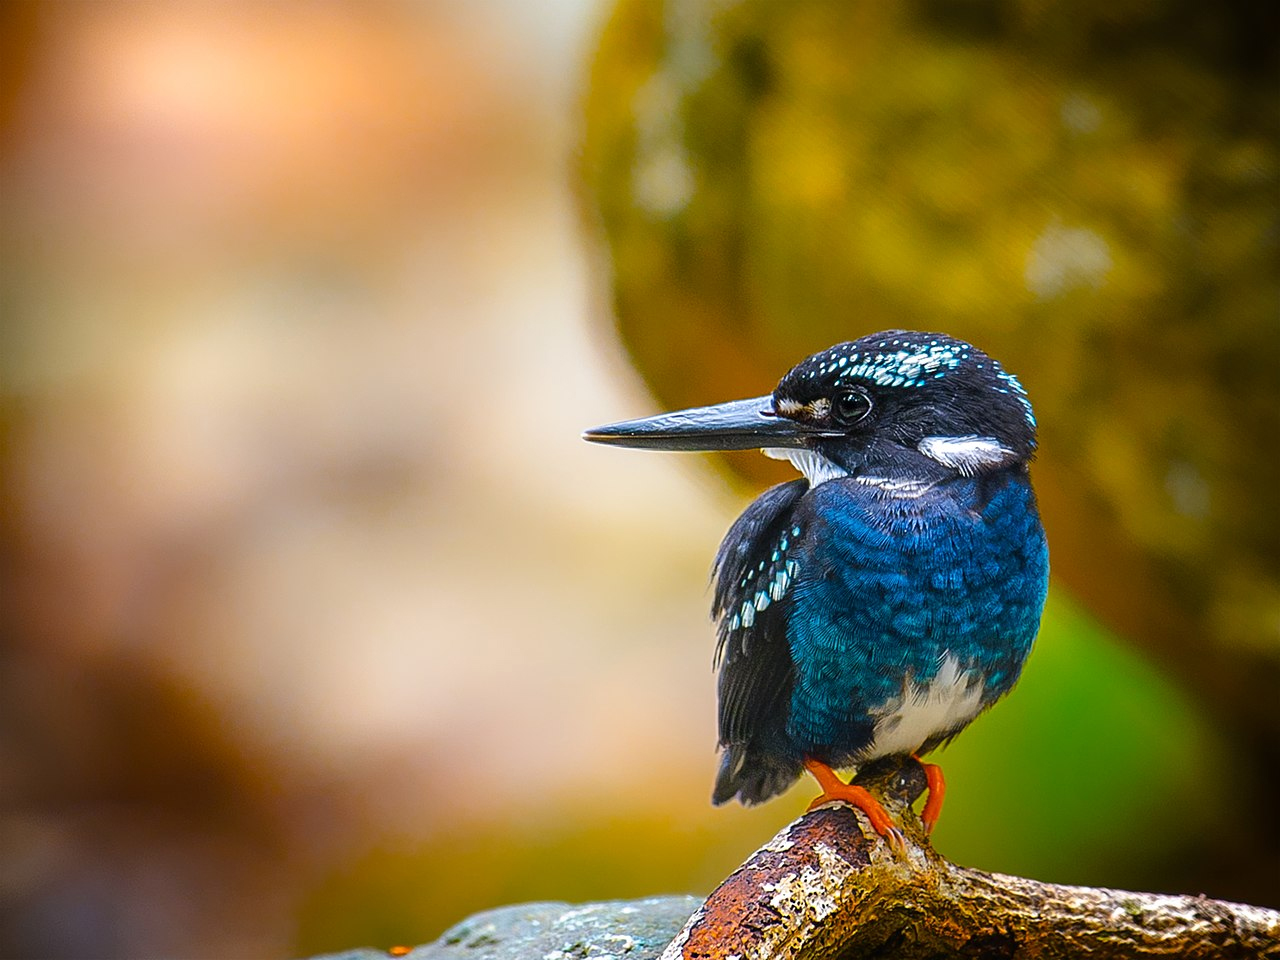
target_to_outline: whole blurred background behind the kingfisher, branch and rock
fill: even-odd
[[[0,955],[707,892],[758,456],[580,431],[890,326],[1042,424],[950,858],[1280,905],[1280,24],[1190,0],[0,6]]]

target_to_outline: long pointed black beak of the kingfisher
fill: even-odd
[[[623,420],[588,430],[582,439],[653,451],[751,451],[804,447],[808,438],[836,435],[780,417],[773,411],[773,397],[764,396]]]

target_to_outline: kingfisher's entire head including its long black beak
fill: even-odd
[[[810,484],[877,475],[931,480],[1025,463],[1036,419],[1018,379],[941,333],[887,330],[806,357],[772,394],[589,430],[596,443],[753,449]]]

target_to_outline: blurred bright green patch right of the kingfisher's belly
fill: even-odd
[[[1221,756],[1185,694],[1055,589],[1018,687],[934,758],[934,840],[983,869],[1160,888],[1226,805]]]

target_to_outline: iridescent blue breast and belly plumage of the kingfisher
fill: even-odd
[[[954,728],[904,742],[876,723],[905,687],[927,691],[947,658],[972,685],[974,713],[1012,687],[1048,572],[1024,476],[940,481],[910,499],[833,480],[795,517],[808,535],[786,627],[796,675],[787,732],[803,754],[845,767],[957,732],[973,717],[964,690]]]

